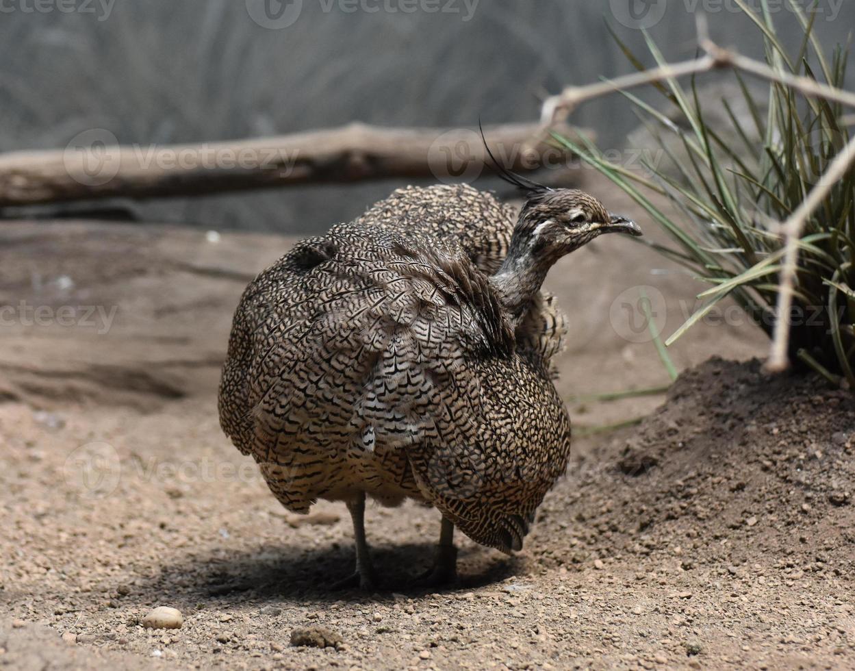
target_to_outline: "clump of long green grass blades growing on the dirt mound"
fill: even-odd
[[[793,3],[804,40],[795,54],[787,53],[762,4],[760,13],[746,6],[743,11],[758,29],[769,67],[843,88],[848,49],[838,47],[828,56],[813,31],[815,15],[806,15]],[[615,38],[630,62],[643,69],[640,59]],[[657,64],[663,65],[662,53],[648,35],[646,43]],[[699,294],[701,307],[666,344],[680,338],[728,296],[772,335],[784,257],[780,222],[799,208],[849,141],[852,121],[839,103],[805,98],[787,85],[773,83],[768,105],[762,105],[738,72],[732,76],[739,82],[751,118],[740,119],[723,101],[732,126],[727,132],[705,121],[705,106],[708,111],[711,101],[699,98],[694,79],[687,87],[676,79],[653,84],[673,106],[676,122],[675,115],[665,115],[629,91],[621,91],[676,173],[648,161],[648,174],[640,174],[608,162],[591,142],[583,139],[580,145],[559,138],[633,197],[668,233],[673,244],[653,244],[660,253],[711,285]],[[760,109],[768,112],[764,115]],[[675,137],[685,150],[680,156],[672,149]],[[734,143],[730,138],[738,139]],[[668,197],[679,216],[666,214],[656,204],[661,199],[653,194]],[[812,368],[851,388],[855,388],[853,259],[855,170],[850,169],[811,215],[799,238],[787,354],[797,367]]]

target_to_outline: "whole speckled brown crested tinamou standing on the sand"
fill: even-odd
[[[395,191],[296,244],[240,300],[221,426],[286,509],[345,502],[357,567],[339,586],[375,583],[366,497],[439,509],[422,576],[439,585],[456,577],[454,527],[520,550],[567,467],[551,374],[564,322],[540,285],[598,235],[641,233],[587,193],[504,175],[525,190],[517,217],[469,186]]]

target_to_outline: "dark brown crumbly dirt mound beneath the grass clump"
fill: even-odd
[[[735,573],[769,555],[793,576],[840,575],[855,563],[853,450],[850,393],[770,377],[757,360],[711,359],[681,375],[631,438],[577,462],[565,488],[571,547],[553,561],[677,549],[687,570]],[[539,533],[555,531],[552,517]]]

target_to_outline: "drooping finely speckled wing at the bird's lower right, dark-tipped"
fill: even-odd
[[[522,540],[546,492],[569,460],[570,423],[555,386],[525,356],[473,362],[481,401],[443,398],[438,438],[408,450],[416,483],[469,538],[504,552]]]

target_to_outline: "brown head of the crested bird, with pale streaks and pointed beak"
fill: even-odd
[[[563,256],[603,233],[641,235],[638,224],[584,191],[540,187],[527,195],[516,232],[535,253]]]

